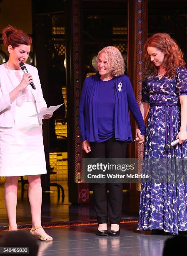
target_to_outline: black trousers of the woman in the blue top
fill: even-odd
[[[117,141],[110,138],[101,143],[90,142],[90,158],[125,158],[127,141]],[[93,184],[95,211],[97,222],[120,224],[122,216],[123,185],[122,184]],[[107,194],[107,189],[109,190]]]

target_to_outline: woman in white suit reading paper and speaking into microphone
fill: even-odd
[[[21,30],[7,26],[2,31],[9,60],[0,65],[0,176],[5,176],[5,205],[9,230],[17,230],[16,204],[18,177],[27,175],[32,215],[32,235],[52,241],[41,226],[42,188],[40,175],[46,173],[42,138],[42,120],[30,117],[47,108],[37,69],[20,62],[30,53],[32,38]],[[29,85],[34,82],[36,90]],[[44,115],[48,119],[52,114]]]

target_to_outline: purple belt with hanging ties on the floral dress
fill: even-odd
[[[150,103],[150,106],[165,107],[165,143],[167,144],[167,108],[170,108],[170,142],[172,141],[172,106],[180,106],[179,103]]]

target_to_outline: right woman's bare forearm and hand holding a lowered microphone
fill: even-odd
[[[181,125],[180,132],[176,138],[179,138],[179,143],[183,143],[187,140],[187,95],[180,95],[180,105],[181,105]]]

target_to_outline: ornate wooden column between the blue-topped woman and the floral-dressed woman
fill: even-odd
[[[147,40],[147,0],[127,0],[128,8],[128,76],[134,88],[137,102],[141,102],[142,90],[142,50]],[[132,136],[135,138],[135,120],[130,114]],[[130,158],[143,157],[143,147],[130,143]],[[138,173],[141,166],[138,166]],[[140,202],[140,184],[130,185],[130,208],[137,212]]]

